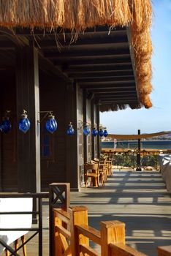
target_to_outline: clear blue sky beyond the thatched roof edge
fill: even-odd
[[[100,114],[100,123],[114,134],[171,130],[171,0],[153,0],[153,107]]]

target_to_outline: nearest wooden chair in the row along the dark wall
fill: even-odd
[[[96,163],[88,163],[84,165],[85,170],[85,189],[87,187],[88,178],[91,178],[92,183],[94,183],[94,187],[99,187],[99,164]]]

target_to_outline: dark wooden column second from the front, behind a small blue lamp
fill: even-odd
[[[66,135],[66,182],[72,190],[78,191],[79,173],[77,168],[77,99],[76,84],[66,85],[66,127],[72,122],[75,135]]]

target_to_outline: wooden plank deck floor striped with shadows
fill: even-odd
[[[105,187],[71,192],[71,204],[88,207],[89,225],[103,220],[126,223],[126,243],[154,256],[157,246],[171,245],[171,192],[157,172],[115,171]],[[43,205],[43,255],[48,254],[48,204]],[[37,238],[27,246],[37,256]],[[22,253],[20,254],[22,255]]]

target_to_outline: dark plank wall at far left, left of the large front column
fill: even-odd
[[[10,74],[10,75],[9,75]],[[0,106],[1,116],[4,116],[6,110],[11,110],[9,119],[12,129],[8,134],[0,132],[1,137],[1,157],[0,157],[0,179],[1,191],[18,191],[18,173],[17,173],[17,151],[16,151],[16,129],[18,129],[18,120],[16,120],[15,104],[15,73],[10,69],[7,72],[1,72],[0,75]]]

